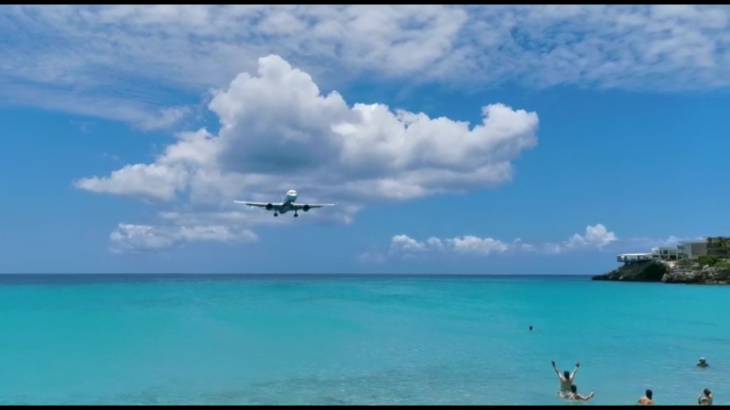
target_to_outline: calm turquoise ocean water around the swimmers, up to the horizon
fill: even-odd
[[[0,405],[564,404],[550,360],[580,361],[588,405],[730,404],[729,301],[575,276],[0,276]]]

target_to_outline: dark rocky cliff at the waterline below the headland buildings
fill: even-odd
[[[593,276],[591,279],[623,282],[730,285],[730,268],[727,266],[702,266],[699,263],[693,263],[689,266],[677,266],[673,262],[653,260],[624,265],[607,274]]]

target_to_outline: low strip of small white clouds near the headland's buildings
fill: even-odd
[[[528,242],[523,239],[510,241],[479,237],[474,235],[459,236],[456,238],[439,239],[431,237],[426,241],[418,241],[407,235],[396,235],[391,238],[390,246],[385,252],[366,252],[361,255],[362,261],[384,261],[388,256],[415,255],[426,253],[452,253],[461,255],[496,255],[503,253],[533,253],[542,255],[557,255],[579,250],[603,250],[621,242],[615,233],[604,225],[588,225],[585,233],[575,233],[564,241]],[[677,238],[670,236],[664,240],[650,240],[645,238],[628,239],[626,244],[642,247],[637,252],[649,252],[654,244],[675,244]],[[623,246],[623,245],[622,245]],[[645,248],[645,249],[644,249]]]

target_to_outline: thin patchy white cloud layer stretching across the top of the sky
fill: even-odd
[[[261,55],[328,88],[358,77],[535,87],[730,84],[718,5],[7,5],[0,101],[149,127],[180,92],[222,87]]]

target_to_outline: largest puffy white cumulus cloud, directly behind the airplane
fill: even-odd
[[[240,210],[235,198],[277,201],[294,188],[300,202],[338,203],[315,217],[347,222],[374,202],[510,181],[512,160],[537,144],[539,125],[536,113],[504,104],[483,107],[475,125],[384,104],[350,105],[339,93],[321,93],[309,74],[277,55],[260,58],[258,74],[239,74],[215,90],[208,107],[220,120],[217,133],[177,134],[153,163],[74,185],[192,212]]]

